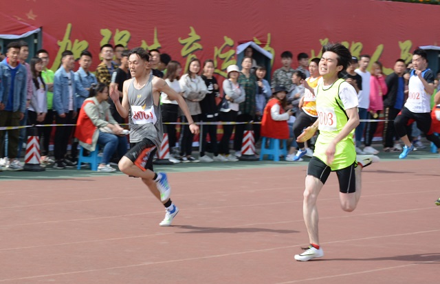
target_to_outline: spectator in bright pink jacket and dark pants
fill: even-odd
[[[376,61],[371,65],[371,78],[370,78],[370,107],[367,113],[367,120],[377,120],[380,113],[384,110],[383,96],[388,91],[386,87],[384,74],[382,72],[382,63]],[[377,122],[366,122],[365,127],[365,148],[366,154],[375,155],[379,153],[371,146],[374,133],[377,129]]]

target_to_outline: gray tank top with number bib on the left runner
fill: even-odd
[[[127,95],[129,96],[129,124],[130,142],[137,143],[148,138],[157,148],[162,142],[162,114],[160,104],[154,105],[153,101],[153,74],[141,89],[134,86],[135,79],[131,80]]]

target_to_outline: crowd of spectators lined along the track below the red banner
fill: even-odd
[[[90,70],[94,57],[87,50],[80,54],[76,72],[74,54],[69,50],[63,52],[61,67],[56,72],[47,68],[50,63],[47,50],[37,51],[29,64],[26,62],[29,56],[27,43],[12,42],[5,51],[6,57],[0,63],[0,128],[13,128],[0,130],[0,170],[23,170],[20,158],[26,128],[17,127],[57,124],[56,127],[38,127],[43,166],[76,167],[79,146],[84,151],[94,151],[100,146],[102,163],[98,171],[115,171],[113,163],[117,163],[126,151],[124,124],[128,121],[115,110],[108,94],[109,87],[115,86],[122,100],[122,85],[131,78],[128,50],[122,45],[102,45],[101,62],[95,72]],[[168,99],[166,94],[161,95],[170,162],[238,161],[247,122],[253,122],[256,143],[261,136],[291,139],[285,160],[300,162],[305,155],[313,155],[314,139],[297,144],[296,137],[319,119],[314,89],[320,83],[320,58],[309,58],[301,52],[294,64],[292,52],[282,52],[282,67],[274,70],[268,81],[265,79],[267,69],[252,57],[254,52],[248,47],[243,60],[227,68],[228,78],[219,86],[214,76],[214,61],[208,59],[202,65],[194,58],[188,69],[182,70],[181,64],[173,61],[170,55],[161,54],[159,50],[149,51],[148,67],[152,74],[164,78],[184,97],[192,120],[209,122],[202,127],[200,153],[193,155],[194,135],[184,123],[186,118],[176,101]],[[359,154],[379,153],[372,146],[375,134],[377,136],[377,119],[385,120],[383,135],[380,135],[383,136],[383,151],[401,151],[393,121],[408,97],[411,66],[399,59],[395,62],[393,74],[386,77],[382,64],[370,60],[367,54],[360,58],[353,56],[347,70],[342,72],[342,78],[358,92],[359,116],[364,120],[355,130],[356,151]],[[424,76],[437,89],[438,78],[434,78],[431,71]],[[177,125],[177,122],[183,124]],[[217,122],[227,123],[219,125]],[[75,124],[76,127],[72,126]],[[219,129],[223,130],[223,135],[217,137]],[[420,141],[421,133],[414,127],[408,131],[409,137],[414,138],[413,144],[424,147]],[[51,141],[53,155],[50,155]]]

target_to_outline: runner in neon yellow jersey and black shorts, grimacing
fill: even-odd
[[[297,261],[324,256],[319,245],[316,200],[331,171],[338,175],[342,210],[351,212],[360,199],[362,167],[379,160],[373,155],[356,157],[353,132],[359,124],[358,96],[352,85],[338,78],[350,60],[349,50],[340,43],[322,47],[318,65],[322,83],[315,94],[318,120],[298,137],[298,142],[304,142],[317,129],[320,131],[305,179],[303,215],[310,246],[295,255]]]

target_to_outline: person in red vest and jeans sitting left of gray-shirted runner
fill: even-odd
[[[98,172],[111,173],[116,171],[110,166],[113,153],[118,150],[118,156],[126,153],[126,136],[122,127],[111,116],[109,87],[104,83],[91,85],[87,98],[78,115],[75,137],[80,145],[88,151],[95,151],[98,144],[103,147]]]

